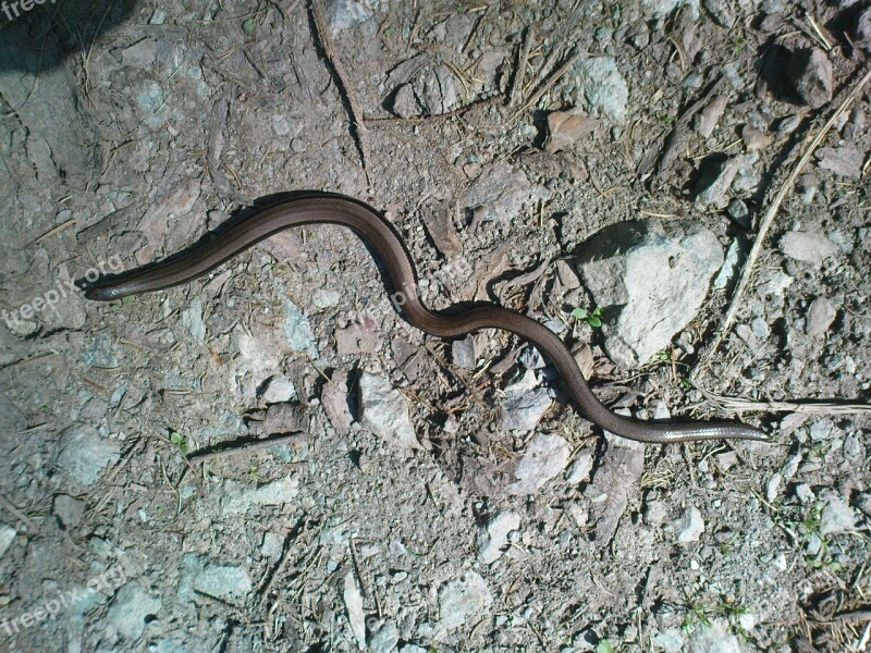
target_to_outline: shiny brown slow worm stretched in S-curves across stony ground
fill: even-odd
[[[413,326],[438,337],[457,337],[481,329],[504,329],[532,343],[553,361],[580,412],[602,429],[630,440],[660,444],[725,438],[766,440],[762,431],[740,423],[650,423],[615,415],[592,394],[563,342],[536,320],[495,305],[453,315],[429,310],[418,296],[412,259],[390,223],[367,205],[340,195],[312,193],[270,206],[186,256],[133,271],[119,280],[100,280],[87,289],[85,296],[109,301],[187,283],[272,234],[309,224],[346,226],[367,242],[387,267],[395,291],[394,305],[400,305],[397,310]]]

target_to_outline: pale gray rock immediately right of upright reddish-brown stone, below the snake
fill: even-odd
[[[408,415],[408,401],[388,379],[364,372],[359,380],[360,423],[405,448],[420,448]]]

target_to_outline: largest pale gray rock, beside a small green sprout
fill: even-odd
[[[625,222],[602,230],[578,261],[584,283],[602,307],[605,348],[614,362],[647,362],[696,317],[723,249],[689,221]]]

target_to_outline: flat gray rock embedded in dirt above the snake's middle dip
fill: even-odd
[[[550,192],[531,184],[526,174],[507,161],[500,161],[478,175],[461,206],[475,211],[483,220],[494,220],[507,225],[520,213],[524,205],[547,199]]]

